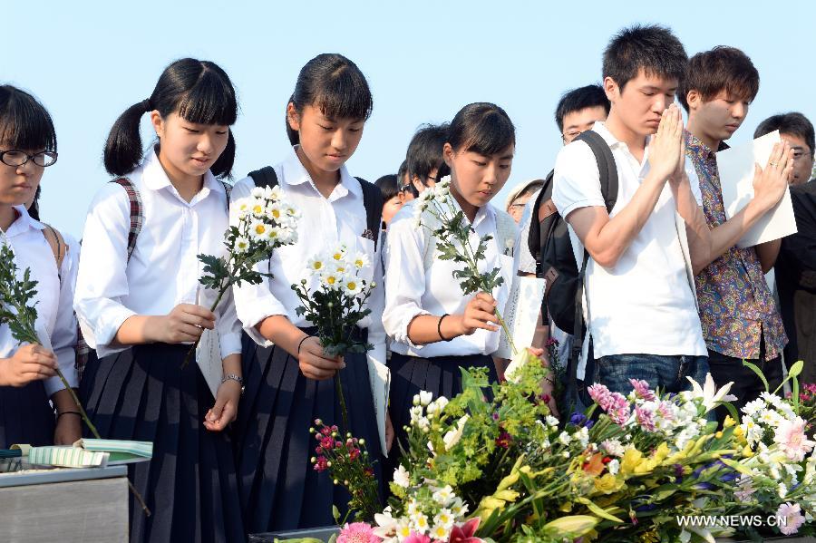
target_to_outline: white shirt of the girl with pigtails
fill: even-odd
[[[117,183],[93,198],[83,233],[74,308],[83,335],[99,356],[127,347],[112,345],[131,315],[167,315],[179,304],[209,307],[218,293],[199,284],[199,254],[226,255],[227,192],[208,172],[199,193],[182,199],[154,151],[128,176],[141,196],[143,222],[128,259],[131,204]],[[241,352],[241,328],[232,292],[215,310],[221,356]]]

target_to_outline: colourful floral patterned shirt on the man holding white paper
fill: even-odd
[[[714,229],[727,219],[714,151],[686,131],[685,154],[700,181],[708,227]],[[754,247],[731,247],[697,274],[695,283],[710,350],[755,360],[764,335],[765,360],[779,356],[788,338]]]

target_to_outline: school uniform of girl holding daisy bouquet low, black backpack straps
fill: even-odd
[[[308,334],[316,334],[312,323],[297,315],[301,305],[292,285],[308,276],[310,257],[345,244],[354,254],[362,252],[371,267],[363,278],[377,286],[367,305],[372,314],[357,323],[356,334],[374,345],[367,354],[346,354],[341,383],[349,414],[348,431],[364,438],[375,476],[382,485],[380,457],[384,442],[384,402],[377,412],[374,390],[376,368],[384,369],[385,334],[380,315],[384,288],[380,247],[367,234],[363,189],[360,181],[340,169],[340,182],[325,198],[317,189],[293,148],[274,166],[278,186],[287,201],[302,212],[296,244],[277,248],[271,259],[257,264],[257,271],[271,273],[258,285],[242,284],[235,289],[238,318],[243,324],[244,380],[247,390],[236,425],[238,480],[241,505],[250,533],[334,524],[332,506],[345,510],[349,496],[334,485],[327,473],[313,469],[316,441],[309,434],[316,419],[342,427],[339,401],[333,379],[315,381],[301,373],[295,356],[260,335],[256,326],[269,316],[283,315]],[[233,189],[233,221],[242,199],[255,187],[252,178],[238,181]],[[377,212],[379,217],[379,211]],[[316,286],[316,284],[314,284]]]

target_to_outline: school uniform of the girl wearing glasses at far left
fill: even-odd
[[[53,249],[43,235],[43,223],[31,218],[24,206],[15,206],[15,211],[18,217],[5,232],[5,241],[15,253],[17,278],[23,278],[26,267],[31,270],[31,279],[37,281],[35,329],[44,342],[43,335],[50,340],[65,379],[76,386],[73,286],[79,246],[65,237],[68,250],[62,266],[57,269]],[[18,348],[8,325],[0,326],[0,358],[11,358]],[[54,413],[49,400],[63,388],[57,376],[32,381],[20,388],[0,386],[0,448],[7,449],[14,443],[53,445]]]

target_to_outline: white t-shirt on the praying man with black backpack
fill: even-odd
[[[592,130],[607,141],[617,166],[617,202],[610,214],[615,217],[646,178],[648,150],[638,162],[604,123],[596,122]],[[693,192],[700,202],[699,187],[693,187]],[[559,152],[552,199],[562,217],[578,208],[605,206],[597,161],[587,143],[576,141]],[[569,234],[580,267],[584,249],[571,227]],[[706,354],[684,246],[685,224],[666,184],[652,215],[614,267],[601,267],[589,258],[584,310],[585,314],[588,310],[595,358]]]

